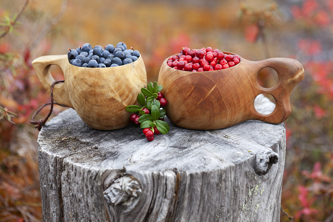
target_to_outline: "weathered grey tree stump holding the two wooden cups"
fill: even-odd
[[[258,110],[274,104],[260,96]],[[140,128],[91,129],[73,109],[38,136],[44,221],[279,221],[284,124],[248,120],[179,128],[148,142]]]

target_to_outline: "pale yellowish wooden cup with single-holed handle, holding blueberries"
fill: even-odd
[[[147,86],[142,56],[133,63],[119,67],[84,68],[68,62],[67,55],[42,56],[32,62],[36,75],[50,94],[55,81],[51,65],[61,68],[65,82],[54,86],[54,100],[76,110],[91,128],[120,129],[130,123],[129,105],[137,104],[141,88]]]

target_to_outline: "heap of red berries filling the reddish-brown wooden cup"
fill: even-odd
[[[182,48],[177,56],[172,56],[167,60],[167,65],[173,69],[204,72],[227,69],[240,62],[238,55],[224,54],[218,49],[211,47],[201,49]]]

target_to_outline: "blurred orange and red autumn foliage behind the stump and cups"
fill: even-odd
[[[50,97],[31,61],[85,42],[120,41],[140,51],[148,81],[157,81],[164,59],[185,46],[210,46],[254,61],[299,60],[305,79],[293,91],[285,122],[281,206],[289,216],[281,211],[281,221],[333,221],[332,36],[332,0],[1,0],[0,221],[42,218],[38,131],[29,120]],[[63,79],[58,67],[51,71]],[[262,86],[274,82],[271,72],[259,73]],[[62,110],[56,106],[52,116]]]

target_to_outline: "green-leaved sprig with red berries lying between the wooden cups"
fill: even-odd
[[[166,134],[170,127],[164,121],[166,111],[162,108],[167,105],[166,98],[161,93],[162,86],[157,85],[157,82],[150,82],[146,88],[141,88],[141,93],[138,95],[140,106],[131,105],[126,107],[129,112],[134,112],[130,116],[133,126],[143,128],[143,133],[148,141],[154,139],[154,134]]]

